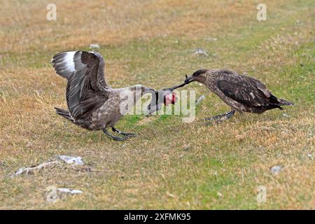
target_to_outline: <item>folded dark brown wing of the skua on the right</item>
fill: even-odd
[[[216,86],[225,96],[244,106],[269,106],[276,103],[260,80],[248,76],[221,71]]]

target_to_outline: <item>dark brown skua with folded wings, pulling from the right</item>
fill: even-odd
[[[270,109],[283,109],[281,106],[293,105],[285,99],[275,97],[267,87],[256,78],[241,76],[226,69],[200,69],[186,78],[185,83],[197,81],[206,85],[220,99],[228,104],[232,111],[209,118],[230,118],[235,111],[263,113]]]

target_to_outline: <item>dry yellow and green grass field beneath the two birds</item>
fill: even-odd
[[[46,20],[48,3],[0,0],[0,209],[315,209],[315,1],[264,1],[260,22],[258,1],[58,0],[57,21]],[[160,89],[200,68],[226,68],[295,106],[206,127],[202,118],[229,108],[192,83],[184,89],[207,94],[195,122],[125,116],[118,129],[138,136],[112,141],[53,109],[66,108],[66,80],[50,59],[91,43],[112,87]],[[10,178],[57,155],[80,156],[88,169]],[[283,167],[277,175],[275,165]],[[48,186],[83,194],[50,203]]]

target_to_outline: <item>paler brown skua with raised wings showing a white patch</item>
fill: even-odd
[[[134,104],[146,91],[143,85],[113,89],[104,78],[105,62],[98,52],[59,52],[52,59],[56,73],[66,78],[66,103],[69,111],[56,109],[57,114],[87,130],[103,130],[121,141],[134,134],[120,132],[114,125],[123,117],[121,105]],[[127,112],[127,111],[126,111]],[[111,127],[124,137],[115,137],[106,128]]]

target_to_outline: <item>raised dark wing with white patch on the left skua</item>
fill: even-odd
[[[66,102],[74,120],[86,120],[109,98],[104,59],[98,52],[59,52],[52,59],[59,76],[68,80]]]

